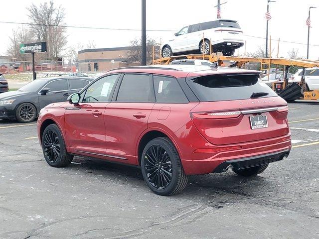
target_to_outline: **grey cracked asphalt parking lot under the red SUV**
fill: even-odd
[[[318,239],[319,104],[289,108],[288,159],[253,178],[192,176],[170,197],[137,168],[78,157],[50,167],[35,122],[0,120],[0,238]]]

